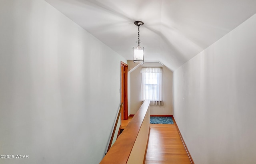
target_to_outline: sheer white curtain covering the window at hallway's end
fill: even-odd
[[[150,100],[151,105],[161,105],[162,67],[142,67],[142,101]]]

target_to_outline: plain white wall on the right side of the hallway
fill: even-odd
[[[256,15],[174,71],[174,118],[196,164],[256,161]]]

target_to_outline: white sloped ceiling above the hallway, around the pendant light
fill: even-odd
[[[206,49],[256,13],[256,0],[46,0],[57,10],[133,60],[141,20],[145,61],[170,70]]]

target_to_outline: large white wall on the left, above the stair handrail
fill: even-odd
[[[0,0],[0,159],[97,164],[120,105],[123,57],[44,0]]]

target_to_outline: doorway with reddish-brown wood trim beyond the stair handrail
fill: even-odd
[[[128,65],[121,61],[121,103],[124,103],[121,109],[121,120],[128,119],[127,77]]]

